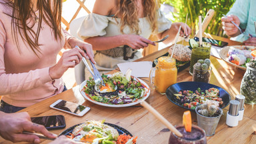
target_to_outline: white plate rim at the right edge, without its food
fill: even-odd
[[[245,49],[245,47],[247,47],[248,49],[255,49],[254,46],[247,46],[247,45],[233,45],[233,46],[227,46],[227,47],[223,47],[221,49],[221,51],[219,51],[219,56],[221,57],[221,59],[223,59],[224,61],[226,61],[229,65],[233,65],[235,67],[238,67],[239,69],[243,69],[246,70],[246,67],[241,67],[240,65],[235,65],[235,63],[231,63],[229,61],[229,56],[227,55],[227,53],[229,53],[229,48],[230,47],[235,47],[235,49]]]

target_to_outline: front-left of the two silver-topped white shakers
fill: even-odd
[[[226,120],[226,124],[229,125],[229,127],[236,127],[238,125],[239,104],[240,102],[237,100],[230,101],[229,111],[227,111],[227,120]]]

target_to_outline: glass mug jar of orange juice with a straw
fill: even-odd
[[[152,81],[155,71],[155,83]],[[165,94],[166,89],[177,82],[176,60],[171,57],[159,57],[157,65],[151,69],[150,83],[161,94]]]

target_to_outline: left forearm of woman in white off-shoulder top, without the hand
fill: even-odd
[[[93,50],[103,51],[113,49],[121,45],[127,45],[125,35],[115,35],[113,37],[90,37],[85,39],[85,42],[93,45]]]

